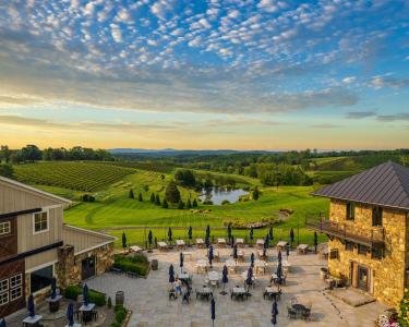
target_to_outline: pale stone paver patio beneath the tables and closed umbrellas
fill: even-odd
[[[193,290],[201,288],[205,275],[197,275],[195,263],[205,258],[206,250],[189,249],[193,252],[192,258],[185,256],[183,270],[193,275]],[[224,263],[230,258],[231,249],[221,249],[220,263],[214,263],[213,270],[221,272]],[[245,263],[239,264],[238,274],[229,274],[229,282],[226,288],[229,293],[236,284],[243,284],[241,272],[246,271],[250,265],[251,252],[254,247],[245,247]],[[220,289],[214,291],[216,301],[215,326],[272,326],[272,302],[263,300],[263,291],[269,283],[270,274],[276,271],[277,252],[268,251],[269,261],[267,272],[257,277],[257,286],[251,290],[252,296],[248,301],[231,301],[229,294],[221,295]],[[176,272],[179,271],[179,252],[176,250],[160,253],[155,251],[148,257],[159,262],[159,269],[151,271],[146,279],[128,278],[124,275],[107,272],[94,278],[87,283],[91,288],[106,292],[115,299],[118,290],[125,293],[125,305],[133,311],[129,326],[212,326],[208,302],[195,300],[193,294],[189,305],[182,304],[181,299],[168,300],[168,268],[172,263]],[[284,255],[284,259],[285,259]],[[287,279],[287,286],[282,287],[281,300],[278,302],[277,326],[373,326],[375,318],[387,307],[378,302],[363,306],[352,307],[342,301],[332,296],[325,291],[325,283],[320,279],[320,268],[326,266],[315,254],[298,255],[291,252],[289,262],[291,269]],[[312,319],[305,323],[300,319],[289,319],[287,304],[290,299],[297,296],[299,302],[311,301]]]

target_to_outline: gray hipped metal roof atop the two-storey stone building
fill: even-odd
[[[311,194],[408,210],[409,169],[388,161]]]

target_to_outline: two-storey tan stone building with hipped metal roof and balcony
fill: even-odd
[[[329,217],[306,226],[328,235],[334,277],[389,305],[409,284],[409,169],[388,161],[312,193]]]

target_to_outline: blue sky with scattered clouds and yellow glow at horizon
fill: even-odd
[[[0,1],[0,144],[409,147],[409,2]]]

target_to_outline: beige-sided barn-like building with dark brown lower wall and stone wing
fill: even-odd
[[[70,201],[0,177],[0,318],[58,286],[100,275],[116,238],[63,223]]]

